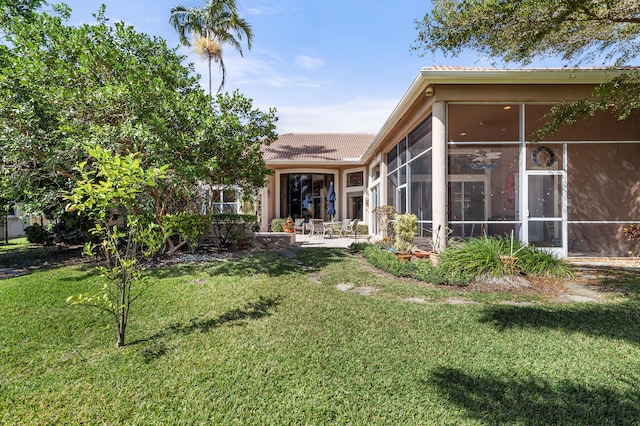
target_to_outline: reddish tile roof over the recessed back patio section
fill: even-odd
[[[371,133],[287,133],[265,147],[274,161],[345,161],[359,159],[375,137]]]

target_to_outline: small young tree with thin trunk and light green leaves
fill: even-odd
[[[125,345],[125,330],[131,303],[144,289],[144,261],[162,247],[159,225],[145,216],[146,189],[163,177],[166,166],[143,169],[135,154],[113,155],[100,146],[87,148],[92,164],[82,162],[77,170],[81,179],[67,198],[69,211],[81,211],[95,221],[92,233],[102,240],[100,248],[106,265],[98,270],[106,283],[95,294],[70,296],[73,305],[94,306],[113,315],[117,333],[116,346]],[[125,222],[115,224],[114,212],[123,214]],[[85,253],[94,255],[96,247],[85,245]]]

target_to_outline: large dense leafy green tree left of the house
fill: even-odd
[[[79,177],[85,145],[138,153],[144,167],[170,164],[149,187],[156,222],[184,209],[199,182],[248,185],[267,170],[257,153],[275,139],[275,111],[239,93],[213,104],[191,67],[164,40],[123,23],[65,25],[65,14],[6,23],[0,49],[0,179],[33,209],[60,213]],[[1,185],[0,185],[1,186]],[[2,194],[0,194],[2,195]],[[13,199],[13,198],[9,198]]]

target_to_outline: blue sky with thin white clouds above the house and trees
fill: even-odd
[[[54,2],[54,1],[52,1]],[[67,0],[70,23],[93,22],[100,4],[111,22],[124,21],[139,32],[178,45],[169,25],[177,4],[195,7],[204,0]],[[224,51],[225,89],[239,89],[254,106],[277,109],[278,132],[367,132],[384,124],[420,68],[429,65],[490,66],[474,54],[461,58],[420,57],[411,51],[414,21],[431,7],[427,0],[237,0],[253,27],[251,50],[241,57]],[[246,45],[245,45],[246,46]],[[207,64],[188,48],[208,88]],[[214,68],[214,90],[220,74]]]

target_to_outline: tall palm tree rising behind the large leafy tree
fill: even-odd
[[[180,35],[180,42],[191,46],[200,56],[209,62],[209,95],[211,95],[211,63],[220,65],[222,81],[218,92],[224,86],[227,70],[222,60],[222,46],[230,44],[242,55],[242,37],[247,38],[247,47],[251,49],[253,31],[247,21],[238,16],[235,0],[209,0],[201,7],[186,8],[182,5],[171,9],[169,19]]]

